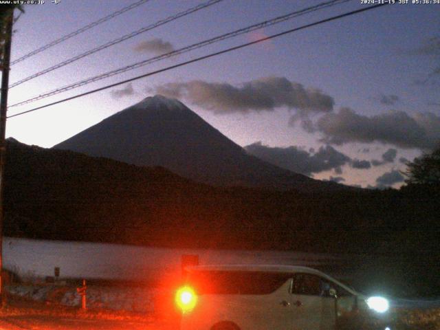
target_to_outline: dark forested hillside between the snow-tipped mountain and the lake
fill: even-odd
[[[164,168],[8,142],[5,235],[210,248],[434,252],[438,187],[214,188]]]

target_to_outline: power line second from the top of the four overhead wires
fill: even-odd
[[[118,39],[115,39],[113,41],[109,41],[108,43],[104,43],[103,45],[100,45],[100,46],[98,46],[98,47],[96,47],[96,48],[94,48],[92,50],[88,50],[87,52],[84,52],[83,54],[79,54],[77,56],[74,56],[72,58],[67,59],[66,61],[58,63],[58,64],[56,64],[56,65],[54,65],[52,67],[48,67],[47,69],[44,69],[44,70],[42,70],[40,72],[37,72],[36,74],[32,74],[32,76],[28,76],[26,78],[23,78],[23,79],[17,81],[16,83],[13,83],[12,85],[10,85],[9,88],[21,85],[21,84],[25,83],[28,80],[31,80],[31,79],[34,79],[36,77],[42,76],[43,74],[47,74],[48,72],[54,71],[55,69],[59,69],[60,67],[64,67],[65,65],[68,65],[68,64],[73,63],[75,61],[78,61],[80,58],[84,58],[86,56],[89,56],[91,54],[99,52],[100,50],[104,50],[104,49],[106,49],[108,47],[111,47],[113,45],[116,45],[118,43],[122,43],[122,41],[126,41],[127,39],[133,38],[133,36],[137,36],[137,35],[139,35],[141,33],[144,33],[144,32],[153,30],[155,28],[158,28],[161,25],[164,25],[164,24],[169,23],[171,21],[175,21],[176,19],[184,17],[184,16],[186,16],[188,14],[191,14],[192,12],[197,12],[198,10],[201,10],[203,8],[206,8],[206,7],[209,7],[210,5],[214,5],[215,3],[218,3],[220,1],[223,1],[223,0],[208,0],[206,2],[203,2],[203,3],[199,4],[199,5],[196,5],[195,7],[192,7],[190,9],[188,9],[188,10],[184,10],[183,12],[179,12],[179,13],[173,15],[173,16],[167,17],[166,19],[161,19],[160,21],[157,21],[156,23],[150,24],[150,25],[148,25],[148,26],[146,26],[146,27],[144,27],[144,28],[142,28],[140,30],[136,30],[134,32],[131,32],[129,34],[121,36]]]

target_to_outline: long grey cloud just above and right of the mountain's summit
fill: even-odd
[[[186,98],[215,113],[274,111],[278,107],[295,109],[298,118],[309,113],[333,110],[334,100],[319,89],[305,88],[283,77],[250,80],[239,86],[192,80],[155,87],[155,92],[173,98]]]

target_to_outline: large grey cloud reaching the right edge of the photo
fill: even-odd
[[[314,131],[322,133],[321,141],[327,144],[382,142],[402,148],[433,149],[440,142],[440,117],[429,112],[408,115],[404,111],[369,117],[342,108],[318,118]]]

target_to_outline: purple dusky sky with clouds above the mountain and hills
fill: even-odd
[[[45,0],[26,5],[14,25],[12,61],[135,2]],[[13,65],[10,85],[203,2],[146,1]],[[346,1],[12,107],[321,2],[220,1],[11,88],[8,115],[366,6],[360,0]],[[6,135],[51,147],[148,96],[164,94],[278,166],[342,184],[398,188],[405,162],[432,151],[440,141],[439,21],[439,4],[386,5],[10,118]]]

